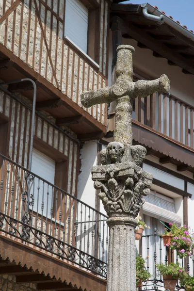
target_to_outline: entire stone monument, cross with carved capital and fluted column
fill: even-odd
[[[99,198],[109,216],[107,291],[136,291],[135,217],[145,202],[143,195],[150,193],[153,179],[140,167],[146,148],[132,146],[133,99],[170,89],[166,75],[152,81],[132,81],[133,51],[126,45],[117,48],[115,84],[81,94],[85,107],[116,100],[113,142],[100,152],[102,165],[92,168],[94,187],[100,189]]]

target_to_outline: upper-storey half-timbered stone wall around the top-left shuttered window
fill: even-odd
[[[100,11],[99,69],[64,38],[65,0],[0,1],[0,43],[81,107],[83,90],[106,85],[109,0],[95,2]],[[106,124],[104,104],[86,111]]]

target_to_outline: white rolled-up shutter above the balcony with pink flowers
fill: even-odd
[[[143,205],[143,213],[158,218],[165,222],[176,222],[181,224],[181,217],[175,211],[174,199],[151,191],[148,196],[144,196],[146,202]]]

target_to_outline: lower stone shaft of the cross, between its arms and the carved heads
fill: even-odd
[[[123,145],[132,146],[132,105],[131,98],[127,96],[116,99],[114,141]]]

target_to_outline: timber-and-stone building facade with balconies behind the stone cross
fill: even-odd
[[[171,81],[169,94],[133,104],[133,144],[154,175],[137,241],[146,290],[163,290],[154,264],[171,257],[157,231],[194,229],[194,33],[149,4],[147,15],[117,2],[0,3],[0,290],[106,289],[107,216],[91,168],[113,139],[115,104],[86,109],[80,95],[115,81],[120,44],[135,48],[134,81]],[[182,262],[191,274],[193,262]]]

